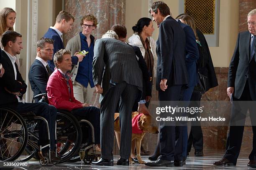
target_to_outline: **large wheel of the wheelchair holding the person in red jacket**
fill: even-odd
[[[57,153],[63,163],[77,153],[82,143],[82,130],[77,118],[66,110],[57,113]]]

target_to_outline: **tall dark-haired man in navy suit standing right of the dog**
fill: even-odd
[[[187,88],[186,37],[179,23],[170,16],[169,7],[164,2],[154,2],[150,13],[159,27],[156,90],[159,91],[160,106],[165,107],[163,101],[181,101]],[[176,104],[171,107],[176,107]],[[170,116],[168,113],[165,115]],[[183,166],[182,145],[175,147],[175,123],[166,123],[161,121],[159,125],[160,156],[155,162],[146,163],[148,166]],[[176,128],[181,135],[182,126]]]

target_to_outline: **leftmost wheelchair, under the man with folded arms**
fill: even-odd
[[[37,120],[44,121],[47,125],[48,141],[50,140],[48,122],[44,117],[36,116],[33,112],[17,113],[8,107],[0,107],[0,161],[29,160],[34,154],[28,152],[29,147],[36,148],[39,151],[39,163],[43,166],[47,165],[51,163],[50,150],[48,158],[42,155],[42,149],[49,147],[50,144],[44,146],[36,144],[33,139],[38,140],[38,135],[33,133],[31,127],[27,127],[27,120],[34,125]]]

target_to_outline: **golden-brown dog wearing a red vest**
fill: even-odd
[[[143,115],[138,114],[138,112],[132,112],[132,126],[133,126],[133,133],[132,133],[132,141],[136,140],[136,151],[137,151],[137,158],[140,164],[145,164],[146,162],[141,160],[141,140],[143,139],[146,133],[151,134],[158,134],[158,128],[151,124],[151,115]],[[134,130],[137,129],[137,130]],[[115,113],[115,122],[114,122],[114,130],[115,133],[120,135],[120,123],[119,123],[119,113]],[[131,142],[132,142],[131,141]],[[118,146],[120,145],[120,141],[118,141]],[[130,164],[134,164],[131,159],[129,158]]]

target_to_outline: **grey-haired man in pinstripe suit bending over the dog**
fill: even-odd
[[[142,72],[133,48],[109,30],[96,40],[92,62],[93,81],[100,93],[101,158],[92,165],[113,166],[114,113],[120,99],[121,142],[117,165],[129,165],[131,153],[131,110],[140,100]]]

